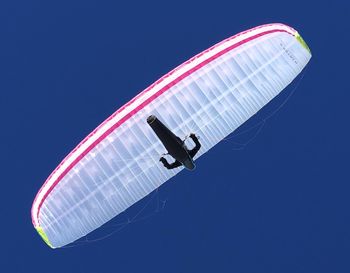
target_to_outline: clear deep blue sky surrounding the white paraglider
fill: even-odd
[[[0,271],[350,272],[346,2],[2,1]],[[254,141],[218,145],[160,188],[164,209],[106,240],[42,242],[32,201],[83,137],[194,54],[270,22],[296,28],[313,58]]]

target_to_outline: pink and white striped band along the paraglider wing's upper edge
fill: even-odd
[[[33,206],[32,206],[32,211],[31,211],[31,215],[32,215],[32,222],[34,226],[40,226],[39,224],[39,212],[40,212],[40,208],[43,205],[45,199],[47,198],[47,196],[50,194],[50,192],[55,188],[55,186],[62,180],[62,178],[86,155],[88,154],[97,144],[99,144],[103,139],[105,139],[110,133],[112,133],[116,128],[118,128],[120,125],[122,125],[124,122],[126,122],[129,118],[131,118],[133,115],[135,115],[137,112],[139,112],[141,109],[143,109],[146,105],[148,105],[149,103],[151,103],[153,100],[155,100],[157,97],[159,97],[160,95],[162,95],[164,92],[166,92],[167,90],[169,90],[172,86],[174,86],[175,84],[177,84],[178,82],[180,82],[181,80],[183,80],[184,78],[186,78],[187,76],[191,75],[193,72],[197,71],[198,69],[200,69],[201,67],[205,66],[206,64],[210,63],[211,61],[217,59],[218,57],[222,56],[223,54],[227,53],[228,51],[231,51],[234,48],[237,48],[240,45],[243,45],[249,41],[252,41],[256,38],[259,38],[261,36],[270,34],[270,33],[274,33],[274,32],[286,32],[290,35],[294,35],[294,33],[289,32],[287,30],[284,29],[273,29],[273,30],[268,30],[265,32],[261,32],[258,33],[256,35],[253,35],[251,37],[248,37],[242,41],[239,41],[225,49],[223,49],[222,51],[216,53],[215,55],[211,56],[208,59],[203,60],[201,63],[199,63],[198,65],[194,66],[193,68],[189,69],[188,71],[184,72],[182,75],[180,75],[179,77],[175,78],[173,81],[171,81],[169,84],[167,84],[166,86],[164,86],[163,88],[161,88],[157,93],[155,93],[154,95],[152,95],[151,97],[149,97],[146,101],[144,101],[142,104],[140,104],[139,106],[137,106],[135,109],[133,109],[132,111],[130,111],[129,113],[127,113],[123,118],[121,118],[117,123],[113,124],[104,134],[102,134],[98,139],[96,139],[90,146],[88,146],[81,154],[79,154],[79,156],[62,172],[62,174],[54,181],[54,183],[51,185],[51,187],[47,190],[47,192],[45,192],[43,198],[40,200],[39,206],[38,206],[38,211],[37,214],[35,215],[34,211],[33,211],[33,207],[34,207],[34,203],[37,202],[39,193],[41,193],[41,191],[43,190],[44,186],[46,185],[46,183],[48,183],[48,181],[50,180],[50,178],[53,176],[54,173],[56,173],[61,166],[63,165],[63,163],[69,158],[71,157],[76,151],[77,149],[84,144],[89,138],[91,138],[106,122],[108,122],[109,120],[111,120],[115,115],[117,115],[118,113],[120,113],[121,111],[123,111],[127,106],[129,106],[130,104],[132,104],[136,99],[140,98],[142,95],[144,95],[146,92],[150,91],[152,88],[154,88],[156,85],[158,85],[159,83],[161,83],[164,79],[166,79],[167,77],[169,77],[170,75],[172,75],[175,71],[178,71],[180,68],[182,68],[183,66],[191,63],[194,59],[197,59],[198,57],[202,56],[203,54],[212,51],[214,48],[218,47],[219,45],[232,40],[242,34],[251,32],[253,30],[259,29],[259,28],[263,28],[263,27],[267,27],[267,26],[284,26],[284,27],[288,27],[291,31],[295,32],[294,29],[292,29],[289,26],[283,25],[283,24],[268,24],[268,25],[262,25],[262,26],[258,26],[249,30],[246,30],[244,32],[238,33],[228,39],[223,40],[222,42],[212,46],[211,48],[199,53],[198,55],[194,56],[193,58],[189,59],[188,61],[184,62],[183,64],[181,64],[180,66],[176,67],[174,70],[172,70],[171,72],[167,73],[166,75],[164,75],[162,78],[160,78],[158,81],[156,81],[155,83],[153,83],[152,85],[150,85],[148,88],[146,88],[144,91],[142,91],[141,93],[139,93],[138,95],[136,95],[132,100],[130,100],[128,103],[126,103],[125,105],[123,105],[121,108],[119,108],[116,112],[114,112],[109,118],[107,118],[103,123],[101,123],[94,131],[92,131],[82,142],[80,142],[78,144],[78,146],[75,147],[75,149],[69,153],[63,160],[62,162],[57,166],[57,168],[51,173],[51,175],[46,179],[45,183],[43,184],[43,186],[40,188],[39,192],[37,193],[34,202],[33,202]],[[36,225],[34,219],[37,219],[37,223],[38,225]]]

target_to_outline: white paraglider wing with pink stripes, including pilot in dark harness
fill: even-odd
[[[283,24],[244,31],[191,58],[112,114],[58,165],[33,202],[34,227],[52,248],[99,228],[184,167],[193,169],[310,58],[298,32]],[[159,135],[152,120],[164,125]],[[184,144],[188,135],[193,148]],[[173,163],[162,159],[165,152]]]

